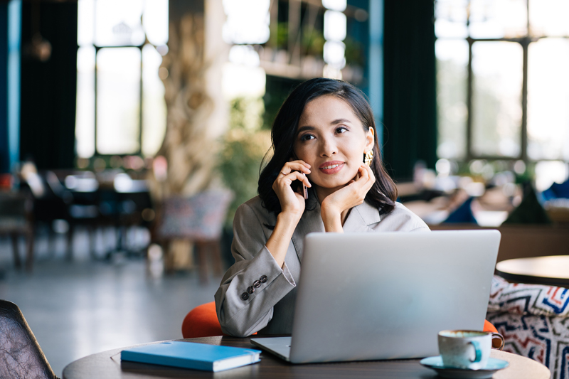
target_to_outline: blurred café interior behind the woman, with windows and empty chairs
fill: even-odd
[[[398,201],[432,230],[498,229],[498,262],[569,255],[568,11],[0,0],[0,299],[57,376],[182,338],[234,262],[275,114],[317,77],[363,91]],[[486,319],[506,351],[568,379],[569,289],[512,282],[493,282]]]

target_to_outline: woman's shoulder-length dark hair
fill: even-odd
[[[310,101],[324,95],[336,96],[348,103],[364,129],[368,131],[369,128],[373,128],[373,131],[376,132],[375,135],[377,135],[376,121],[373,118],[373,111],[369,103],[363,93],[349,82],[314,78],[299,84],[287,97],[287,100],[282,103],[277,117],[275,117],[271,132],[272,149],[265,155],[263,163],[267,160],[271,150],[273,154],[265,167],[261,169],[259,176],[258,191],[263,206],[274,213],[280,213],[281,208],[279,198],[277,198],[277,194],[272,189],[272,183],[275,182],[282,166],[293,155],[293,145],[297,137],[300,115]],[[377,139],[376,143],[373,144],[371,170],[373,175],[376,176],[376,182],[373,183],[373,187],[368,191],[365,201],[379,208],[382,215],[390,213],[395,208],[397,188],[383,168]]]

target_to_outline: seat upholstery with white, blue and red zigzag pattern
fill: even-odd
[[[553,379],[569,379],[569,289],[494,276],[486,319],[504,336],[504,351],[543,363]]]

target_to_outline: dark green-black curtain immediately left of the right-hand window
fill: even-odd
[[[432,1],[385,0],[383,154],[399,181],[437,160],[435,25]]]

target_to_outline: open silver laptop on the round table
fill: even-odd
[[[500,233],[311,233],[292,336],[251,342],[291,363],[437,356],[437,333],[482,330]]]

